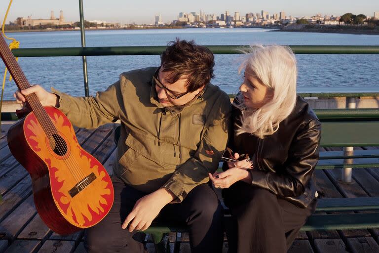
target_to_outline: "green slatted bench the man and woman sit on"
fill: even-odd
[[[315,110],[321,121],[321,147],[379,146],[379,109]],[[379,167],[379,150],[320,152],[316,169]],[[219,168],[220,169],[220,168]],[[379,198],[319,199],[316,213],[310,216],[301,231],[348,230],[379,228],[379,213],[319,214],[333,211],[379,210]],[[229,219],[225,210],[225,222]],[[151,234],[156,252],[168,252],[169,232],[185,232],[176,224],[153,223],[144,231]]]

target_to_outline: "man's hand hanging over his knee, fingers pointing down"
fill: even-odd
[[[159,189],[139,199],[122,224],[122,229],[127,228],[129,223],[129,232],[148,229],[152,224],[152,220],[158,216],[160,210],[170,203],[174,197],[174,194],[170,191]]]

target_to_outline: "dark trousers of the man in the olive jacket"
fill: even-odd
[[[87,229],[85,246],[90,253],[147,252],[141,242],[133,239],[136,232],[130,233],[127,229],[121,228],[137,200],[146,193],[127,186],[115,176],[112,181],[113,207],[101,222]],[[166,205],[155,221],[187,225],[193,253],[222,251],[222,208],[216,193],[208,184],[195,187],[183,202]]]

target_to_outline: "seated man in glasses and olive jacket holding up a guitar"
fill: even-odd
[[[77,127],[121,121],[114,163],[114,205],[86,232],[90,252],[145,252],[133,239],[156,218],[187,224],[192,252],[221,252],[222,210],[208,182],[227,144],[231,104],[210,84],[214,57],[193,41],[170,42],[161,66],[122,73],[96,97],[72,97],[39,85],[42,105],[60,109]]]

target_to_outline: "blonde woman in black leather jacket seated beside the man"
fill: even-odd
[[[209,174],[232,215],[230,252],[285,253],[317,204],[313,171],[321,124],[296,95],[290,48],[255,46],[246,52],[244,80],[233,102],[229,147],[250,157]],[[242,155],[241,155],[242,156]]]

